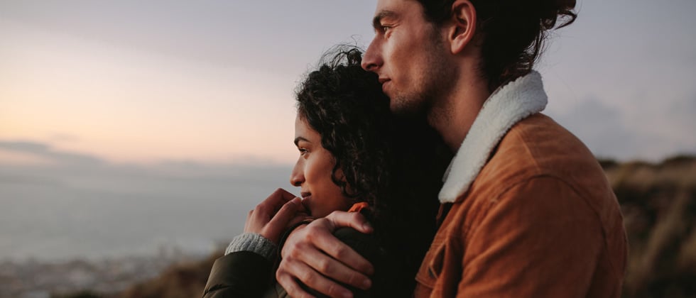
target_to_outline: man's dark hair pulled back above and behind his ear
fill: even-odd
[[[441,25],[452,15],[455,0],[418,0],[428,21]],[[482,37],[482,75],[493,91],[528,74],[543,51],[548,31],[570,25],[575,0],[471,0]],[[558,21],[562,23],[556,26]]]

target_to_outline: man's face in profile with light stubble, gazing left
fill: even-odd
[[[392,111],[427,112],[453,81],[440,29],[413,0],[378,0],[373,25],[362,67],[379,75]]]

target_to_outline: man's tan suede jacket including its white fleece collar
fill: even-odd
[[[620,297],[626,233],[597,160],[537,113],[538,73],[489,101],[450,165],[415,297]]]

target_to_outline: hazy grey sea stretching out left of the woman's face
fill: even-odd
[[[290,166],[0,165],[0,261],[205,255]],[[294,192],[296,193],[296,192]]]

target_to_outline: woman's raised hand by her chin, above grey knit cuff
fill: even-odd
[[[279,188],[257,205],[254,210],[249,211],[246,223],[244,223],[244,232],[259,233],[277,244],[281,233],[288,226],[306,218],[305,207],[300,198]]]

